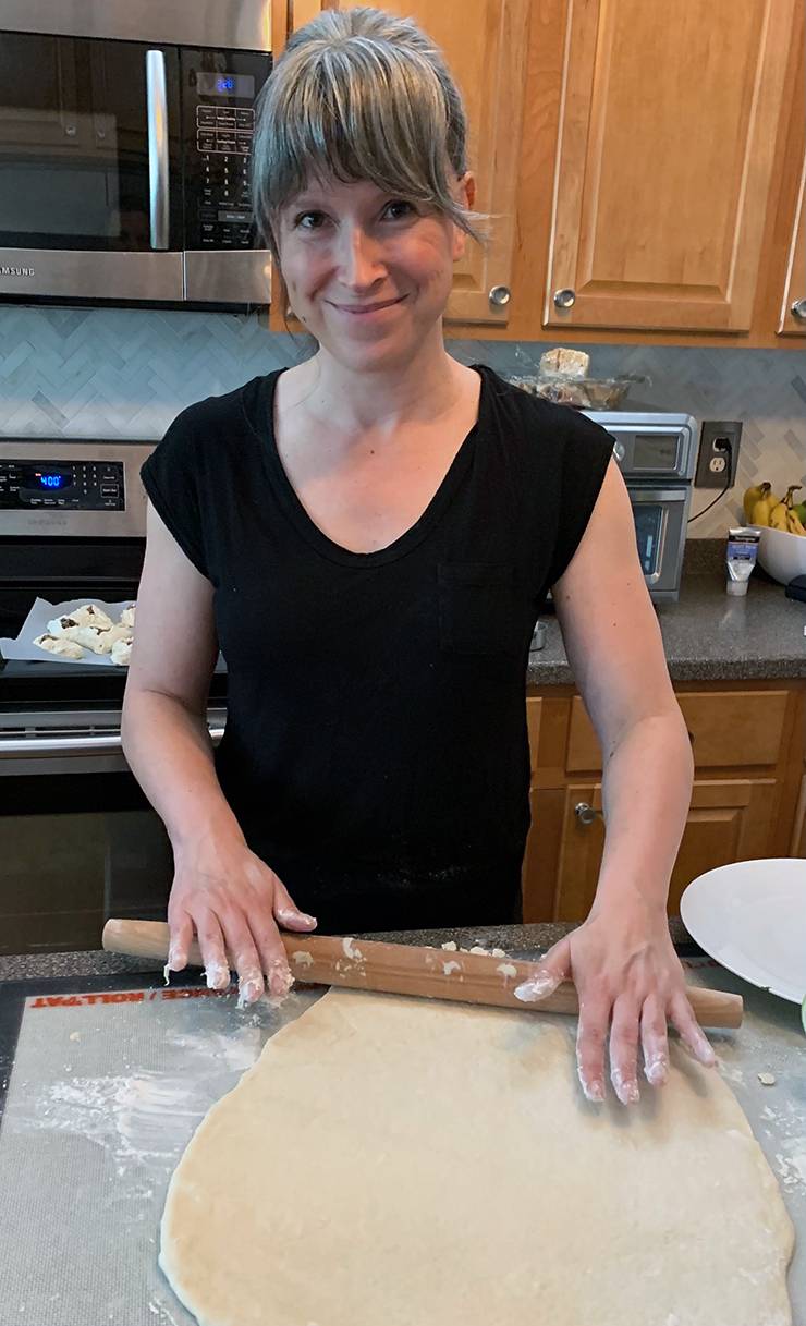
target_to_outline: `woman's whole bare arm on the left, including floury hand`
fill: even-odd
[[[170,965],[187,964],[195,930],[208,984],[229,983],[229,949],[251,1002],[262,993],[264,972],[274,993],[290,980],[277,922],[290,930],[316,923],[249,851],[216,776],[205,721],[217,656],[212,594],[150,507],[123,748],[174,847]]]

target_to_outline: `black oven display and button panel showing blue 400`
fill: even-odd
[[[0,460],[0,511],[125,511],[119,460]]]

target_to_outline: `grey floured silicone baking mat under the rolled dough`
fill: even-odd
[[[798,1010],[709,959],[684,967],[692,984],[746,998],[741,1030],[711,1038],[798,1232],[789,1286],[794,1323],[806,1326]],[[42,983],[27,998],[0,1127],[0,1326],[194,1326],[156,1265],[170,1176],[209,1106],[317,997],[239,1012],[235,989],[53,994]]]

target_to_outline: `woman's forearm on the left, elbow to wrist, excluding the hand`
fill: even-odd
[[[204,719],[159,691],[127,693],[123,751],[174,850],[202,831],[243,838],[221,792]]]

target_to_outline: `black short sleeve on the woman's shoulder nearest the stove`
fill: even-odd
[[[209,578],[199,495],[202,457],[194,427],[196,408],[191,406],[178,415],[142,465],[141,479],[156,514],[184,556]]]

